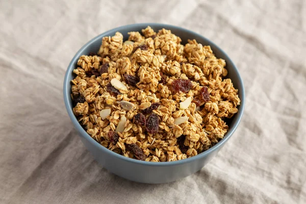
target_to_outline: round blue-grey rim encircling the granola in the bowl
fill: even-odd
[[[213,147],[207,149],[206,151],[203,151],[201,154],[198,154],[196,156],[193,156],[193,157],[190,157],[190,158],[187,158],[187,159],[183,159],[183,160],[178,160],[178,161],[171,161],[171,162],[147,162],[147,161],[141,161],[141,160],[136,160],[136,159],[132,159],[132,158],[127,158],[127,157],[124,157],[122,155],[119,155],[117,154],[116,152],[102,146],[101,144],[99,144],[96,140],[94,140],[84,129],[83,127],[81,126],[81,124],[78,122],[77,118],[75,117],[73,111],[72,111],[72,106],[71,104],[69,104],[69,97],[70,96],[70,89],[71,89],[71,84],[70,84],[70,81],[68,81],[68,76],[69,74],[71,73],[71,71],[73,70],[72,67],[74,67],[75,65],[75,62],[78,61],[78,56],[83,52],[84,49],[86,49],[87,47],[89,47],[91,45],[91,43],[93,41],[95,41],[97,38],[100,38],[100,37],[104,37],[104,36],[107,36],[108,33],[111,33],[111,32],[115,32],[117,31],[118,29],[123,29],[123,28],[129,28],[131,27],[131,29],[133,29],[133,27],[143,27],[143,28],[146,28],[147,26],[159,26],[159,27],[164,27],[165,29],[177,29],[177,30],[182,30],[182,31],[185,31],[185,32],[188,32],[188,33],[191,33],[193,36],[197,36],[198,38],[202,38],[206,41],[208,41],[210,44],[212,44],[216,49],[218,49],[218,51],[225,55],[228,60],[230,61],[230,63],[233,64],[233,69],[236,71],[237,73],[237,79],[238,79],[238,84],[241,85],[241,88],[240,88],[240,94],[239,94],[239,97],[240,97],[240,100],[241,100],[241,103],[240,103],[240,106],[238,107],[239,111],[238,111],[238,115],[237,115],[237,120],[235,121],[234,124],[232,124],[232,127],[231,129],[229,129],[226,133],[226,135],[224,136],[224,138],[222,138],[217,144],[215,144]],[[132,30],[131,30],[132,31]],[[133,24],[127,24],[127,25],[122,25],[120,27],[117,27],[117,28],[114,28],[114,29],[111,29],[111,30],[108,30],[104,33],[101,33],[99,34],[98,36],[92,38],[91,40],[89,40],[85,45],[83,45],[77,52],[77,54],[74,55],[74,57],[72,58],[72,60],[70,61],[68,67],[67,67],[67,70],[66,70],[66,73],[65,73],[65,78],[64,78],[64,87],[63,87],[63,95],[64,95],[64,103],[65,103],[65,107],[66,107],[66,110],[67,110],[67,113],[70,117],[70,120],[72,121],[74,127],[78,130],[78,132],[81,134],[80,136],[82,136],[83,138],[85,138],[89,143],[91,143],[92,145],[96,146],[98,149],[100,149],[102,152],[104,152],[105,154],[109,154],[111,156],[114,156],[116,157],[117,159],[120,159],[120,160],[124,160],[126,162],[131,162],[131,163],[135,163],[135,164],[139,164],[139,165],[148,165],[148,166],[173,166],[173,165],[182,165],[182,164],[186,164],[186,163],[190,163],[190,162],[193,162],[195,160],[198,160],[200,158],[203,158],[203,157],[206,157],[208,155],[210,155],[213,151],[217,150],[222,144],[224,144],[228,139],[231,138],[231,136],[233,135],[233,133],[236,131],[240,121],[241,121],[241,118],[242,118],[242,115],[243,115],[243,112],[244,112],[244,105],[245,105],[245,92],[244,92],[244,85],[243,85],[243,81],[242,81],[242,78],[241,78],[241,75],[238,71],[238,68],[236,67],[236,65],[234,64],[234,62],[231,60],[231,58],[219,47],[217,46],[214,42],[212,42],[211,40],[209,40],[208,38],[206,37],[203,37],[202,35],[196,33],[196,32],[193,32],[193,31],[190,31],[188,29],[185,29],[185,28],[182,28],[182,27],[178,27],[176,25],[170,25],[170,24],[164,24],[164,23],[133,23]]]

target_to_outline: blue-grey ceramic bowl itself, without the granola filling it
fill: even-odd
[[[227,122],[229,130],[226,136],[212,148],[202,152],[197,156],[185,160],[155,163],[130,159],[122,155],[116,154],[115,152],[105,148],[104,146],[96,142],[93,138],[91,138],[83,129],[83,127],[79,124],[77,118],[74,116],[72,111],[72,100],[70,97],[70,81],[75,77],[72,73],[72,70],[77,67],[77,61],[79,57],[81,55],[88,55],[89,52],[97,52],[104,36],[113,36],[116,32],[120,32],[122,33],[124,40],[127,40],[127,32],[141,32],[141,29],[146,28],[147,25],[149,25],[155,31],[158,31],[162,28],[171,30],[173,34],[181,37],[182,44],[187,43],[188,39],[196,39],[197,42],[203,45],[210,45],[216,57],[222,58],[226,61],[226,68],[228,70],[227,77],[232,80],[234,87],[239,90],[241,105],[238,107],[238,113],[230,121]],[[222,49],[220,49],[212,41],[201,36],[200,34],[194,33],[184,28],[176,27],[174,25],[160,23],[139,23],[124,25],[122,27],[115,28],[103,34],[100,34],[89,42],[87,42],[78,51],[78,53],[75,54],[68,66],[64,79],[64,101],[68,115],[73,125],[76,127],[82,142],[101,166],[105,167],[112,173],[128,180],[140,183],[160,184],[173,182],[182,179],[190,174],[193,174],[196,171],[200,170],[203,166],[205,166],[211,159],[213,159],[218,154],[218,151],[224,146],[228,139],[232,137],[233,133],[237,129],[237,126],[243,114],[245,99],[244,87],[237,67],[232,62],[230,57],[228,57],[222,51]]]

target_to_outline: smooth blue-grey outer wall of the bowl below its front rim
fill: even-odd
[[[87,139],[81,137],[81,140],[95,160],[103,167],[124,179],[147,184],[173,182],[191,175],[211,161],[220,150],[213,151],[212,154],[196,160],[196,162],[182,163],[174,166],[148,166],[131,163],[110,155],[101,155],[100,150],[96,146],[91,145]]]

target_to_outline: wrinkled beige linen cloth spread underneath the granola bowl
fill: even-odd
[[[306,203],[304,1],[0,1],[0,22],[0,203]],[[246,89],[241,124],[218,156],[169,184],[99,166],[64,107],[74,54],[137,22],[211,39]]]

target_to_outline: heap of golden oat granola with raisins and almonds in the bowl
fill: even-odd
[[[238,112],[225,61],[195,40],[150,27],[104,37],[81,56],[72,80],[73,112],[87,133],[125,157],[186,159],[220,141]]]

